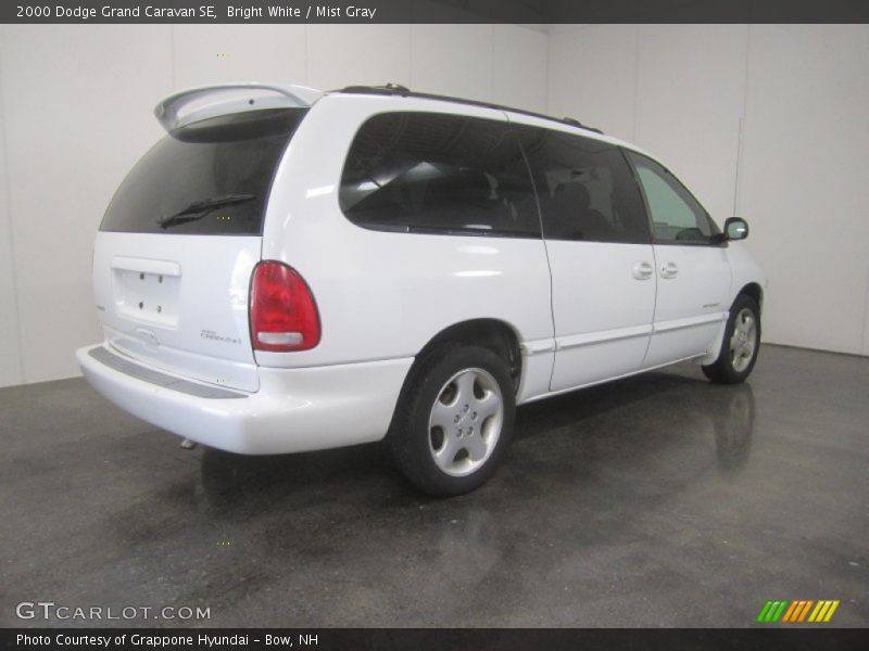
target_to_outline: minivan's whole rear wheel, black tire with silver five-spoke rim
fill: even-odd
[[[513,436],[516,397],[507,366],[476,346],[444,347],[402,392],[389,444],[402,473],[436,497],[488,481]]]

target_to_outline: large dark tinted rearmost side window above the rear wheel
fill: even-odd
[[[341,209],[376,230],[540,238],[516,132],[461,115],[376,115],[348,153]]]

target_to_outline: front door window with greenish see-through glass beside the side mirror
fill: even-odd
[[[659,242],[707,244],[718,232],[696,199],[667,169],[635,152],[628,152],[648,210],[652,231]]]

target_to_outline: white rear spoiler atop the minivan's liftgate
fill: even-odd
[[[306,107],[322,95],[322,91],[305,86],[279,86],[255,81],[200,86],[164,98],[154,107],[154,116],[166,131],[174,131],[190,123],[228,113],[282,106]],[[184,108],[188,111],[182,112]]]

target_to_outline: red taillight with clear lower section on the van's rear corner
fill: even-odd
[[[284,263],[263,260],[254,268],[250,324],[257,350],[307,350],[319,343],[319,315],[311,289]]]

